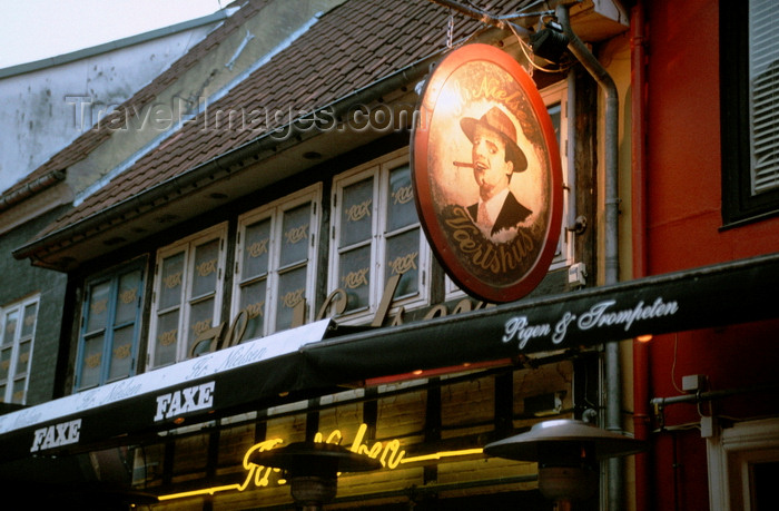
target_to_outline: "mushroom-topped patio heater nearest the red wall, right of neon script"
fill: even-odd
[[[602,430],[586,422],[560,419],[535,424],[526,433],[484,446],[487,455],[539,463],[539,490],[546,499],[570,509],[598,488],[598,463],[607,458],[635,454],[645,449],[639,440]]]

